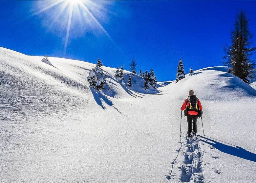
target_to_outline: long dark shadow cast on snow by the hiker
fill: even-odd
[[[212,145],[214,148],[220,150],[221,152],[224,152],[226,154],[230,154],[239,158],[247,159],[249,161],[256,162],[256,154],[251,153],[250,151],[247,151],[242,147],[239,147],[239,146],[233,147],[233,146],[226,145],[226,144],[214,141],[212,139],[206,138],[205,136],[201,136],[201,135],[198,135],[198,136],[202,137],[200,141],[203,141],[205,143],[208,143],[209,145]],[[203,140],[203,139],[206,139],[206,140]]]

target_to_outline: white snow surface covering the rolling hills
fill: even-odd
[[[103,66],[112,89],[98,92],[86,81],[95,64],[42,58],[0,48],[0,182],[255,182],[256,90],[225,67],[146,92],[140,76],[129,90],[131,72],[117,81]],[[184,117],[179,136],[189,90],[207,135],[198,119],[193,147]]]

